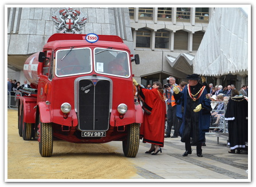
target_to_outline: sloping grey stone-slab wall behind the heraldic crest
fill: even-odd
[[[73,9],[87,14],[87,21],[82,26],[82,34],[119,35],[133,53],[128,7],[73,7]],[[9,17],[12,17],[8,24],[15,25],[9,26],[7,33],[8,55],[36,53],[42,50],[50,35],[57,33],[52,14],[58,10],[58,7],[22,7],[8,10]],[[18,29],[14,30],[14,27]]]

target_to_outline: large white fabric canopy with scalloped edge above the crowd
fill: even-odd
[[[244,9],[214,9],[193,68],[200,75],[248,75],[248,14]]]

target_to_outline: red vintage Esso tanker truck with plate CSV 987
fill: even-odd
[[[122,141],[136,157],[143,110],[134,100],[132,62],[116,35],[53,34],[24,64],[31,89],[19,97],[18,132],[38,140],[42,157],[53,153],[53,138],[83,144]]]

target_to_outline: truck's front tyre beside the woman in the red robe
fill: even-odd
[[[124,156],[136,157],[140,144],[140,124],[131,124],[127,128],[127,137],[123,141]]]

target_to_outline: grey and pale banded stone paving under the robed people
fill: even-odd
[[[192,154],[183,157],[184,143],[180,137],[165,138],[163,153],[156,156],[145,154],[150,144],[141,142],[136,158],[129,158],[137,169],[137,175],[132,178],[135,181],[250,181],[248,149],[241,154],[230,154],[226,143],[226,139],[220,137],[217,144],[216,135],[207,134],[206,146],[202,146],[203,157],[196,156],[196,146],[192,146]]]

